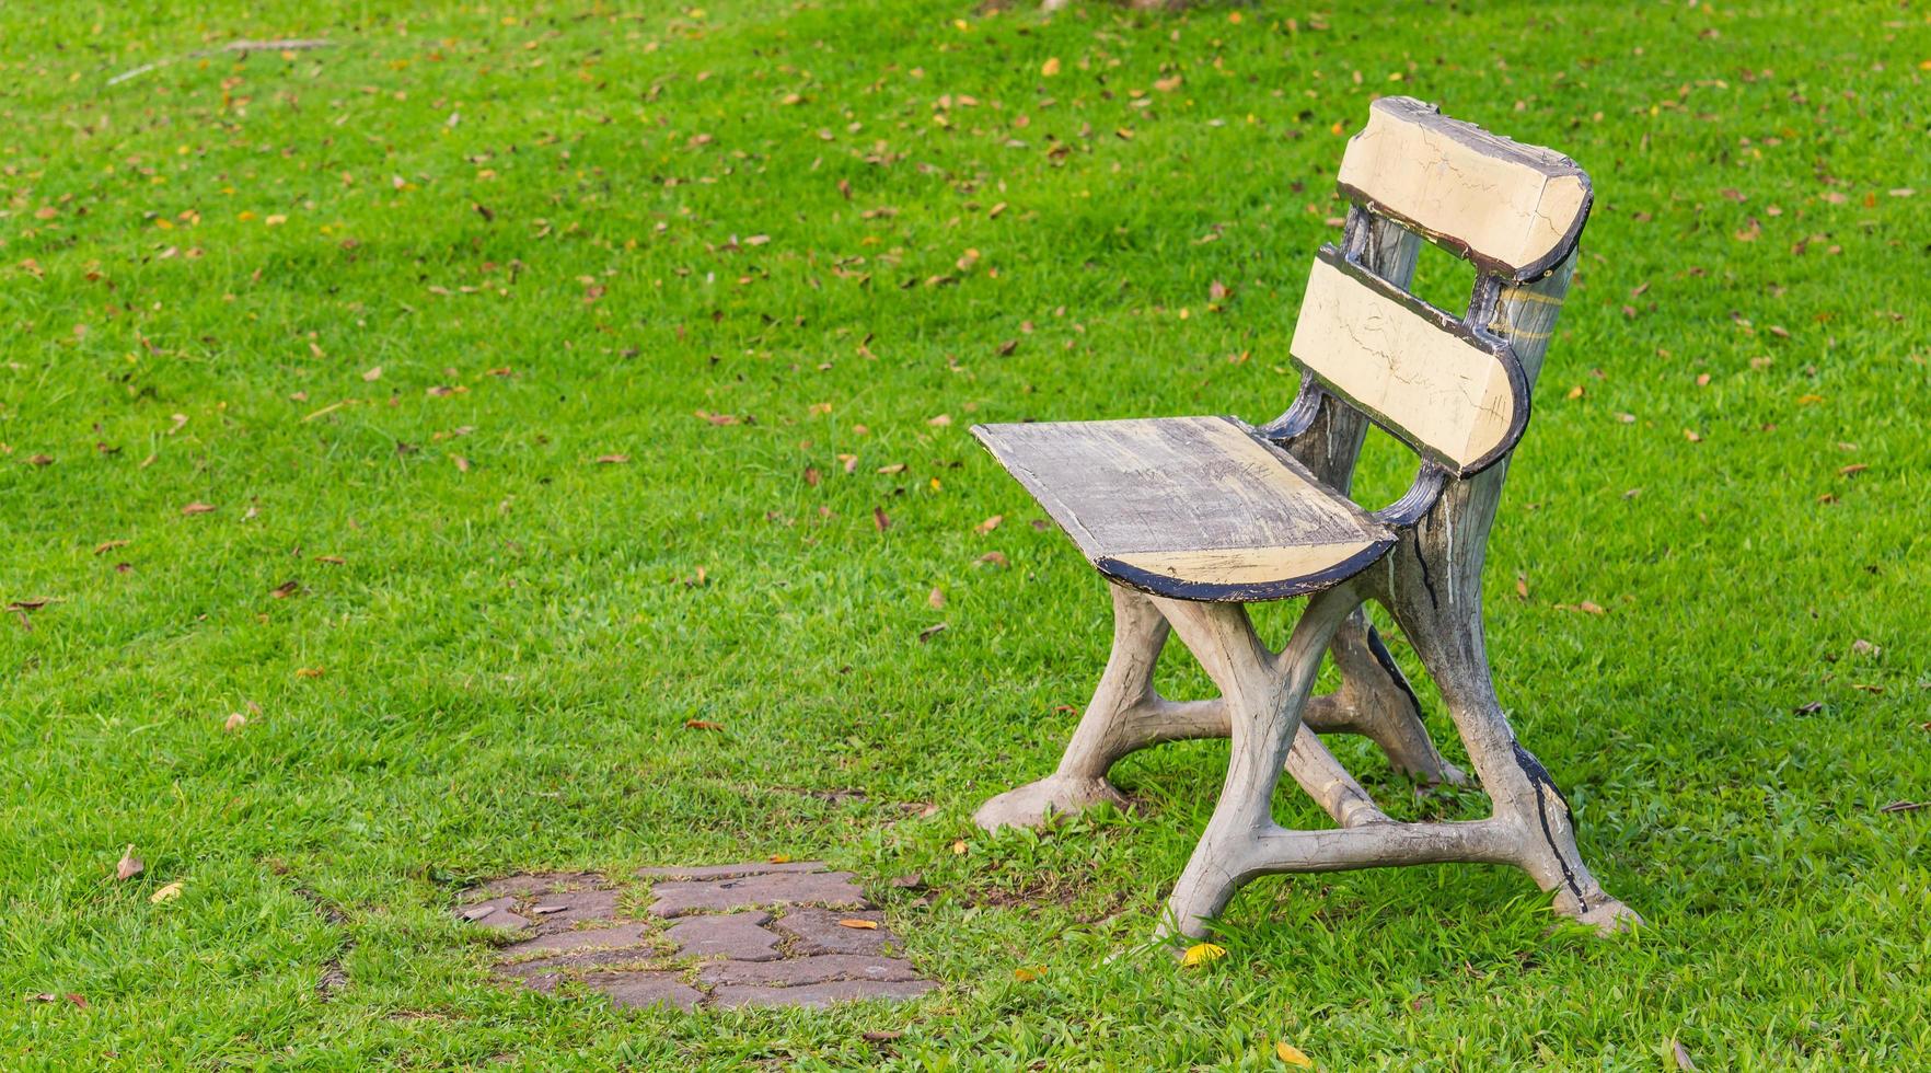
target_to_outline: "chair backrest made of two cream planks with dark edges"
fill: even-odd
[[[1512,338],[1498,307],[1504,291],[1520,301],[1568,264],[1589,218],[1589,176],[1549,149],[1385,96],[1348,143],[1340,189],[1354,203],[1348,237],[1315,259],[1290,351],[1329,394],[1423,457],[1460,477],[1479,473],[1508,455],[1529,419],[1533,369],[1512,345],[1529,338]],[[1464,315],[1361,264],[1373,218],[1475,264]],[[1547,328],[1537,324],[1537,365]]]

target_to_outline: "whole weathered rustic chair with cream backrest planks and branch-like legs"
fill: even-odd
[[[1315,257],[1290,345],[1303,378],[1274,423],[1174,417],[987,425],[973,432],[1112,583],[1114,647],[1056,774],[1002,793],[975,820],[1037,826],[1120,795],[1120,757],[1182,737],[1232,737],[1220,801],[1174,886],[1162,934],[1205,934],[1234,892],[1267,872],[1485,861],[1516,865],[1554,909],[1614,930],[1639,919],[1576,851],[1568,801],[1524,749],[1495,697],[1481,625],[1481,564],[1508,457],[1529,417],[1589,178],[1574,160],[1383,98],[1350,143],[1340,247]],[[1468,311],[1406,286],[1427,239],[1471,261]],[[1367,423],[1419,455],[1385,509],[1348,498]],[[1282,650],[1245,604],[1305,596]],[[1442,762],[1413,691],[1367,625],[1381,602],[1437,681],[1493,814],[1394,822],[1313,731],[1369,735],[1421,780]],[[1168,631],[1220,689],[1176,702],[1153,689]],[[1323,652],[1342,672],[1309,701]],[[1340,830],[1284,830],[1269,809],[1286,770]]]

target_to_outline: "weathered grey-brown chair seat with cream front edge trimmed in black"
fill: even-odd
[[[1282,600],[1367,569],[1394,533],[1232,417],[979,425],[1106,577],[1180,600]]]

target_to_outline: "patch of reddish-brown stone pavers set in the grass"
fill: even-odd
[[[915,998],[921,980],[850,872],[821,861],[510,876],[456,909],[510,938],[494,973],[550,992],[564,982],[616,1005],[823,1007]],[[647,890],[645,890],[647,888]]]

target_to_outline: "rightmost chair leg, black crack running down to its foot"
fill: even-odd
[[[1417,552],[1417,548],[1421,548]],[[1516,741],[1502,714],[1489,674],[1481,625],[1481,564],[1456,562],[1452,550],[1433,540],[1408,540],[1394,552],[1415,575],[1398,567],[1388,608],[1415,647],[1421,664],[1441,689],[1475,774],[1495,805],[1495,820],[1508,828],[1508,861],[1539,888],[1554,892],[1554,909],[1616,932],[1641,924],[1628,905],[1603,892],[1576,849],[1576,824],[1568,799],[1549,770]],[[1415,556],[1429,556],[1421,564]],[[1427,583],[1427,573],[1437,579]],[[1421,583],[1413,583],[1421,581]]]

